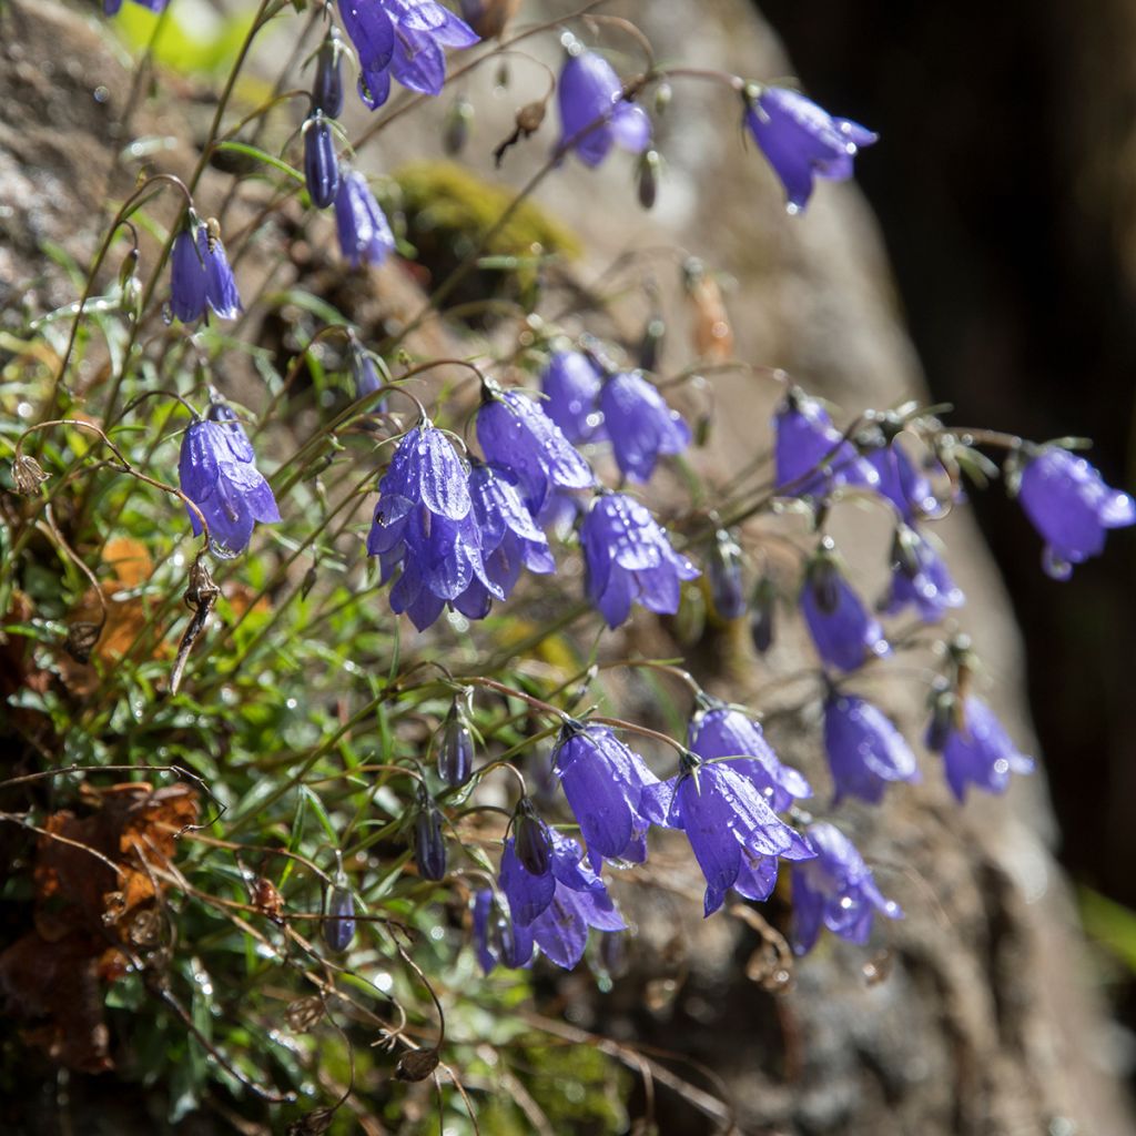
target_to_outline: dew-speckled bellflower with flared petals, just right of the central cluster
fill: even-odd
[[[601,494],[592,502],[579,538],[587,598],[609,627],[627,619],[632,603],[673,616],[682,580],[699,575],[690,560],[675,552],[651,513],[623,493]]]

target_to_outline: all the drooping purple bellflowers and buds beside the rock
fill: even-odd
[[[112,14],[120,0],[105,2]],[[137,2],[160,10],[166,0]],[[339,126],[344,62],[353,60],[359,95],[370,109],[387,100],[392,81],[437,94],[446,80],[446,49],[478,43],[475,27],[499,34],[481,23],[485,7],[463,0],[463,19],[435,0],[336,0],[345,39],[328,27],[314,56],[301,128],[303,181],[314,209],[334,210],[351,268],[382,264],[395,241],[366,177],[343,160],[341,151],[349,149],[341,145]],[[575,154],[594,168],[616,150],[638,156],[640,198],[649,206],[659,166],[651,117],[637,102],[648,77],[625,83],[602,55],[574,36],[563,35],[561,43],[554,158]],[[730,85],[791,214],[805,209],[818,179],[851,177],[858,153],[877,141],[871,131],[833,117],[797,91],[741,80]],[[173,240],[169,310],[185,324],[242,314],[219,227],[193,208]],[[377,395],[383,384],[376,357],[354,340],[350,366],[357,394]],[[609,628],[624,625],[635,607],[676,615],[684,584],[704,573],[718,618],[749,619],[755,649],[768,651],[777,587],[766,575],[747,588],[745,534],[708,518],[693,537],[675,536],[640,499],[660,465],[692,444],[690,425],[652,381],[650,364],[615,365],[584,337],[549,353],[540,385],[533,392],[483,379],[469,443],[425,411],[398,437],[377,482],[366,542],[382,583],[390,585],[392,610],[419,632],[446,611],[484,619],[494,602],[509,599],[526,570],[554,574],[558,548],[575,542],[585,566],[585,598]],[[771,425],[772,499],[797,502],[817,534],[803,558],[796,607],[822,678],[833,803],[878,804],[892,784],[917,780],[919,767],[896,725],[849,682],[867,666],[887,666],[895,648],[882,617],[907,613],[934,626],[962,605],[932,529],[960,496],[959,452],[970,443],[960,446],[957,433],[916,408],[868,414],[841,431],[818,400],[797,389],[787,392]],[[922,458],[910,452],[911,440]],[[1054,577],[1068,578],[1074,566],[1097,556],[1109,529],[1136,523],[1136,502],[1105,485],[1068,445],[1004,435],[972,441],[1005,449],[1005,483],[1039,532],[1044,567]],[[612,484],[598,469],[610,470]],[[189,510],[193,531],[200,535],[203,520],[216,556],[239,556],[257,523],[281,520],[249,436],[219,396],[186,428],[179,476],[197,507]],[[875,502],[893,521],[889,584],[875,603],[858,592],[825,532],[832,507],[852,496]],[[1031,761],[972,694],[969,644],[951,637],[945,659],[932,691],[926,747],[941,754],[945,780],[960,801],[971,786],[1000,793],[1011,775],[1028,772]],[[902,916],[847,836],[804,810],[801,802],[813,795],[810,784],[780,760],[744,708],[699,691],[686,736],[674,743],[677,771],[668,778],[657,776],[610,725],[546,709],[561,724],[551,767],[578,837],[558,830],[532,796],[521,795],[502,840],[498,876],[471,897],[475,947],[486,972],[528,966],[537,953],[574,967],[592,930],[624,929],[604,872],[643,863],[652,828],[685,835],[704,877],[708,917],[732,894],[767,900],[787,870],[800,953],[812,949],[821,928],[863,944],[876,916]],[[437,741],[442,783],[470,783],[475,757],[468,705],[459,699]],[[444,880],[445,818],[425,780],[409,828],[420,877]],[[325,916],[325,942],[348,950],[357,920],[342,869]]]

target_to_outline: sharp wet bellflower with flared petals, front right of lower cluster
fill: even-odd
[[[780,820],[758,786],[727,762],[702,761],[687,752],[680,772],[644,790],[668,828],[680,828],[705,876],[703,910],[713,914],[733,887],[766,900],[777,880],[777,858],[802,860],[816,853]]]

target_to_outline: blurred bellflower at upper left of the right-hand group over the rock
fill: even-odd
[[[816,400],[794,387],[774,414],[778,492],[821,498],[842,485],[879,487],[879,474],[833,426]]]

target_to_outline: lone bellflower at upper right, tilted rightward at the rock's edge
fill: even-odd
[[[852,159],[878,135],[846,118],[833,118],[810,99],[783,86],[762,87],[747,99],[745,125],[785,186],[791,214],[812,194],[812,179],[842,182]]]

